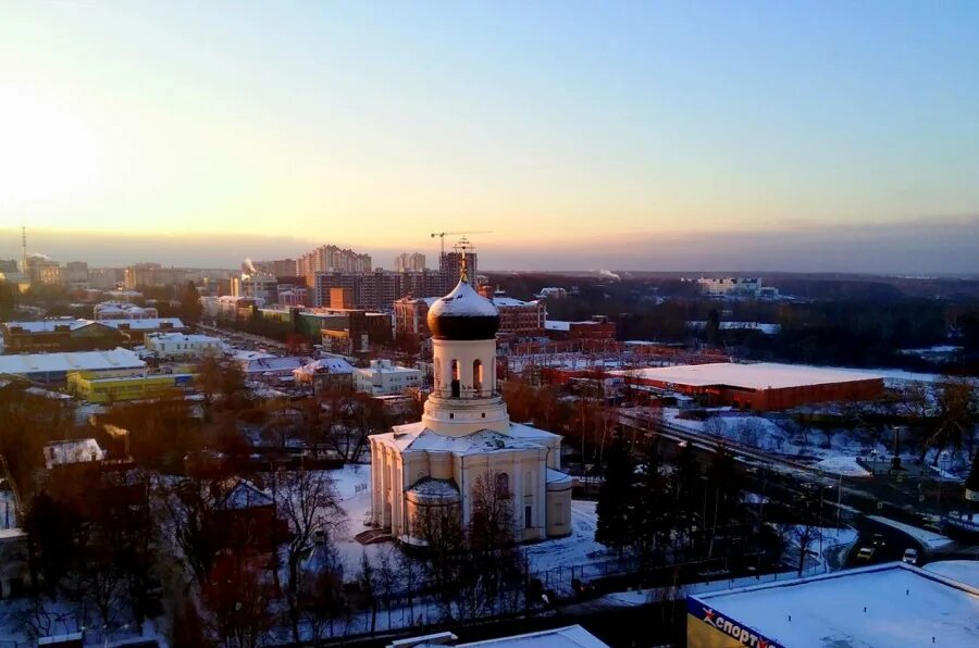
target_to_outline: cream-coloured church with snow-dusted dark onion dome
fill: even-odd
[[[561,437],[510,422],[496,381],[499,311],[469,284],[464,263],[427,322],[435,376],[422,420],[370,437],[372,525],[411,544],[424,544],[419,521],[429,511],[468,528],[474,488],[492,479],[513,507],[517,541],[570,535]]]

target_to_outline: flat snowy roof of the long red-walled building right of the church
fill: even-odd
[[[710,364],[682,364],[610,373],[639,379],[677,383],[695,387],[728,385],[745,389],[784,389],[789,387],[882,378],[880,374],[869,372],[823,369],[802,364],[778,364],[774,362],[759,362],[756,364],[715,362]]]

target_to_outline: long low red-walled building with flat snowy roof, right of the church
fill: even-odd
[[[839,400],[872,400],[883,395],[883,377],[859,371],[796,364],[717,362],[609,372],[631,385],[694,396],[708,406],[783,410]]]

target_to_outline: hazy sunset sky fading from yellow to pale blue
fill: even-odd
[[[3,0],[0,234],[979,270],[977,35],[975,1]]]

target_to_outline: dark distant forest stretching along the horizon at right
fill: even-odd
[[[488,277],[522,299],[532,299],[544,286],[577,287],[574,295],[547,301],[548,317],[606,315],[617,323],[620,340],[703,344],[754,360],[979,375],[979,279],[778,275],[764,284],[795,299],[733,301],[704,298],[695,283],[679,276]],[[714,325],[692,331],[689,321]],[[779,324],[781,331],[720,331],[720,322]],[[959,346],[963,353],[937,365],[897,352],[934,345]]]

